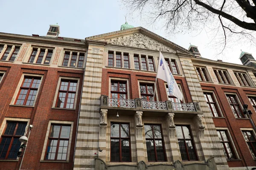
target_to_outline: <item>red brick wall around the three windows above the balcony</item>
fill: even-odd
[[[128,79],[130,99],[135,99],[140,97],[140,87],[138,86],[139,80],[155,81],[156,74],[149,73],[147,71],[129,71],[129,70],[116,70],[116,69],[102,69],[102,89],[101,94],[108,96],[109,93],[109,77],[125,78]],[[189,94],[188,86],[184,77],[174,76],[177,83],[182,86],[183,95],[185,101],[192,102],[191,96]],[[157,93],[159,101],[168,100],[166,94],[165,82],[161,79],[157,80]]]

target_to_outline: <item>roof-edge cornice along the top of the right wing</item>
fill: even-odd
[[[248,71],[253,71],[253,66],[245,66],[245,65],[239,65],[229,62],[220,62],[220,61],[213,61],[209,59],[202,59],[202,58],[191,58],[192,62],[195,64],[204,64],[204,65],[212,65],[216,67],[225,67],[225,68],[231,68],[231,69],[243,69]]]

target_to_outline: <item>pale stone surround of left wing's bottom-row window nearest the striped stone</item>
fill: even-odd
[[[46,153],[46,148],[47,148],[47,143],[48,143],[48,138],[49,138],[49,132],[50,132],[52,124],[70,125],[70,138],[69,138],[69,142],[68,142],[66,161],[44,160],[45,153]],[[44,139],[44,147],[43,147],[43,151],[42,151],[40,161],[42,161],[42,162],[44,162],[44,161],[47,161],[47,162],[69,162],[71,141],[72,141],[72,135],[73,135],[73,126],[74,126],[74,122],[71,122],[71,121],[49,120],[47,131],[46,131],[46,136],[45,136],[45,139]]]

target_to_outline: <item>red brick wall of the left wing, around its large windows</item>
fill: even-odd
[[[30,124],[34,126],[29,136],[22,169],[73,169],[76,126],[84,71],[32,65],[18,65],[7,62],[0,63],[0,71],[6,71],[3,81],[0,84],[0,125],[2,125],[5,117],[15,117],[30,119]],[[33,108],[10,105],[23,73],[43,75],[41,87],[38,91],[38,97],[35,101],[35,107]],[[55,92],[58,90],[57,84],[60,76],[77,77],[80,79],[79,92],[76,94],[76,110],[52,109]],[[74,122],[70,159],[68,160],[68,163],[40,162],[49,120]],[[21,157],[19,160],[21,160]],[[20,162],[17,161],[0,161],[0,170],[15,170],[18,169],[19,165]]]

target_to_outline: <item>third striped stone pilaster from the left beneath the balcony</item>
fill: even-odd
[[[167,125],[168,125],[168,129],[169,129],[169,140],[170,140],[170,154],[171,154],[171,160],[167,160],[167,161],[173,161],[175,162],[176,160],[179,160],[179,152],[178,152],[178,147],[177,147],[177,143],[176,143],[176,138],[175,138],[175,124],[174,124],[174,113],[168,113],[166,115],[166,120],[167,120]]]

